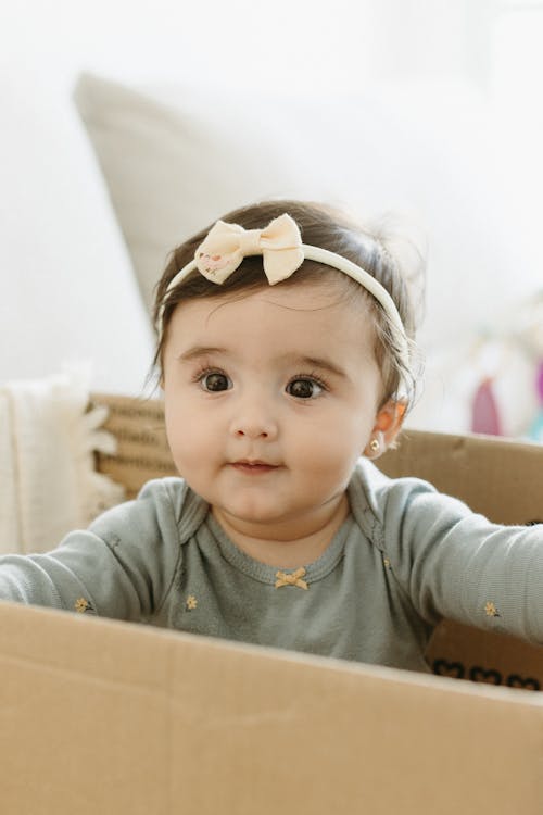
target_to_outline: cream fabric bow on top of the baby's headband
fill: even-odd
[[[224,221],[210,229],[194,255],[199,272],[216,284],[224,283],[243,258],[262,254],[270,286],[290,277],[304,260],[302,237],[296,222],[287,213],[264,229],[244,229]]]

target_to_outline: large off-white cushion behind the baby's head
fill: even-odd
[[[148,308],[174,246],[235,206],[285,196],[414,211],[431,242],[427,390],[412,423],[465,430],[466,347],[538,278],[509,239],[518,208],[500,196],[480,100],[445,91],[278,98],[86,74],[75,98]]]

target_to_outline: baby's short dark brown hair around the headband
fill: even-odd
[[[389,292],[394,301],[412,351],[416,333],[416,314],[406,283],[406,275],[400,267],[399,260],[389,250],[388,237],[378,231],[361,226],[345,212],[336,208],[292,200],[273,200],[233,210],[222,217],[230,224],[239,224],[244,229],[262,229],[269,222],[288,213],[300,227],[303,243],[328,249],[362,266],[372,275]],[[156,286],[154,305],[155,323],[162,319],[159,327],[159,342],[154,358],[154,367],[162,373],[162,359],[167,341],[168,325],[175,308],[185,301],[205,297],[243,297],[268,286],[264,275],[262,258],[247,256],[241,265],[222,285],[207,280],[198,271],[174,286],[168,285],[175,275],[193,260],[195,250],[210,231],[211,224],[202,231],[178,246],[171,254],[164,273]],[[392,236],[393,243],[394,236]],[[419,267],[422,267],[418,255]],[[419,275],[420,276],[420,275]],[[353,302],[358,298],[369,308],[375,319],[375,355],[381,369],[382,399],[402,398],[411,402],[416,385],[413,366],[406,367],[402,350],[395,340],[396,334],[390,325],[389,317],[375,298],[358,283],[330,266],[315,261],[304,261],[302,266],[287,280],[277,286],[294,286],[300,281],[332,283],[340,298]],[[367,312],[366,312],[367,313]],[[412,359],[414,354],[412,353]]]

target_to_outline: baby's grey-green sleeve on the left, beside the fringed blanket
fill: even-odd
[[[0,557],[0,599],[117,619],[151,618],[181,557],[180,510],[171,480],[150,481],[136,501],[71,532],[52,552]]]

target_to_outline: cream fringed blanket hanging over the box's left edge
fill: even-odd
[[[71,372],[0,386],[0,552],[43,552],[124,500],[94,469],[113,453],[100,429],[106,409],[88,410],[87,377]]]

